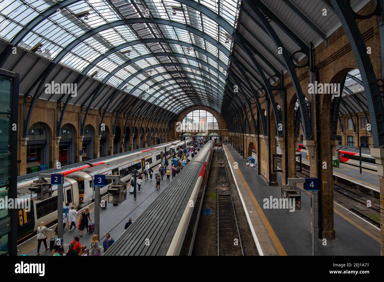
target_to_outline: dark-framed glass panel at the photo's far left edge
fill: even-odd
[[[0,198],[17,197],[18,74],[0,69]],[[17,208],[0,206],[0,256],[15,255]],[[12,221],[11,221],[12,219]]]

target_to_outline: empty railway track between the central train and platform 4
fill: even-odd
[[[244,256],[223,147],[217,147],[217,255]]]

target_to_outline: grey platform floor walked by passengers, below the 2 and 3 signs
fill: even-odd
[[[170,163],[170,159],[169,159]],[[188,164],[186,164],[185,168],[188,167]],[[155,171],[155,168],[153,168]],[[144,177],[144,175],[143,175]],[[149,175],[148,175],[149,177]],[[155,177],[152,177],[152,181],[142,181],[140,193],[137,192],[136,194],[136,202],[133,202],[133,194],[127,193],[127,199],[119,204],[118,206],[113,206],[112,203],[107,203],[107,208],[105,210],[100,210],[100,234],[101,238],[99,236],[100,241],[100,248],[101,248],[101,254],[103,254],[103,241],[105,239],[106,233],[111,233],[111,238],[117,239],[123,232],[124,232],[124,226],[125,223],[128,222],[128,218],[132,217],[132,222],[137,218],[137,216],[140,215],[140,213],[145,210],[150,203],[159,195],[159,193],[164,190],[167,185],[172,182],[172,175],[170,176],[170,181],[166,181],[167,176],[164,175],[164,179],[161,181],[160,184],[160,190],[155,189],[156,181]],[[174,178],[174,180],[177,179],[177,176]],[[128,185],[130,187],[130,185]],[[103,197],[103,200],[107,200],[107,195]],[[88,206],[91,220],[94,220],[94,203]],[[78,211],[83,211],[83,209]],[[80,218],[80,215],[77,216],[76,225],[78,224],[78,220]],[[50,227],[50,229],[55,230],[56,224],[53,225],[53,227]],[[83,237],[80,238],[80,230],[79,229],[73,229],[72,232],[69,232],[68,224],[64,230],[64,249],[68,250],[68,246],[70,245],[72,239],[74,236],[78,236],[80,239],[80,243],[82,245],[86,244],[87,248],[91,246],[91,239],[92,236],[95,233],[88,234],[86,233],[86,229],[83,230]],[[47,244],[49,247],[49,241],[50,241],[50,232],[47,233]],[[55,234],[52,231],[52,236],[55,236],[57,238],[57,234]],[[27,254],[27,256],[36,256],[37,252],[37,239],[36,236],[33,236],[32,238],[28,239],[27,241],[23,242],[22,244],[18,245],[18,249],[20,249],[21,254]],[[41,244],[40,247],[40,256],[51,256],[51,251],[45,251],[44,244]]]

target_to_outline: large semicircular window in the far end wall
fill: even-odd
[[[183,129],[185,128],[185,131],[219,129],[215,116],[205,110],[195,110],[189,112],[186,116],[184,116],[181,126]]]

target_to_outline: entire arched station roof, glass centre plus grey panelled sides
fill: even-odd
[[[351,0],[351,6],[359,10],[367,2]],[[12,46],[25,51],[14,58],[3,56],[1,66],[13,71],[30,66],[21,94],[138,115],[148,104],[173,114],[193,105],[227,114],[242,110],[265,95],[267,81],[278,81],[280,72],[289,69],[276,40],[298,62],[308,54],[310,42],[316,47],[341,26],[325,0],[2,4],[0,36],[7,43],[2,54],[7,48],[9,54]],[[31,53],[37,55],[33,64]],[[76,81],[80,95],[66,99],[45,93],[39,88],[41,79]],[[239,92],[233,92],[235,85]]]

